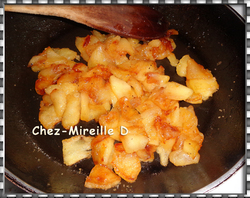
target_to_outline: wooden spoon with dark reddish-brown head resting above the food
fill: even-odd
[[[163,37],[168,28],[159,12],[144,5],[5,5],[5,11],[63,17],[140,40]]]

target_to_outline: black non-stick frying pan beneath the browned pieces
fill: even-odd
[[[245,154],[245,24],[225,5],[155,6],[164,13],[174,36],[175,54],[190,54],[212,71],[220,90],[194,105],[205,140],[197,165],[161,167],[159,159],[143,164],[133,184],[107,191],[84,188],[93,167],[83,160],[72,167],[62,161],[67,135],[34,136],[41,97],[34,89],[37,73],[30,58],[47,46],[75,48],[75,37],[91,29],[56,17],[5,13],[5,167],[6,175],[28,192],[46,193],[192,193],[227,173]],[[184,83],[168,60],[158,62],[171,80]],[[187,105],[182,103],[181,105]],[[96,125],[83,123],[83,127]],[[57,127],[60,127],[58,125]]]

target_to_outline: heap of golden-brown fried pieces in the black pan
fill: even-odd
[[[199,162],[204,136],[192,104],[201,104],[219,85],[211,71],[189,55],[178,60],[169,30],[164,38],[140,42],[114,34],[76,38],[80,52],[47,47],[31,58],[42,95],[39,120],[46,129],[58,123],[75,134],[62,141],[64,163],[91,158],[95,166],[85,187],[109,189],[121,179],[135,182],[141,162],[160,156],[162,166]],[[81,58],[84,61],[81,61]],[[167,58],[186,85],[171,81],[156,60]],[[190,103],[181,107],[180,101]],[[97,129],[77,129],[95,120]]]

